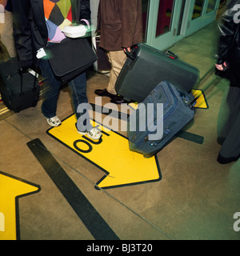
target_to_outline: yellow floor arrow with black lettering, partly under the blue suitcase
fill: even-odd
[[[130,151],[125,137],[93,121],[93,126],[103,131],[102,138],[95,142],[78,134],[75,122],[72,115],[47,133],[106,172],[106,176],[97,182],[98,187],[126,186],[161,179],[157,158],[144,158],[142,154]]]

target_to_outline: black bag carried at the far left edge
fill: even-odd
[[[38,104],[40,86],[29,72],[18,71],[18,59],[0,62],[0,92],[2,102],[14,112]]]

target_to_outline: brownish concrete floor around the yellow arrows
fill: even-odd
[[[203,76],[214,64],[215,42],[216,24],[213,23],[178,42],[171,50],[197,66]],[[208,75],[200,87],[204,88],[213,78],[214,74]],[[90,74],[89,102],[94,103],[94,90],[105,88],[107,82],[103,74]],[[109,230],[121,240],[239,240],[240,232],[234,230],[237,221],[234,214],[240,212],[240,160],[227,165],[216,161],[221,147],[216,141],[218,110],[226,86],[228,82],[218,80],[207,90],[209,109],[196,110],[194,121],[185,129],[204,137],[202,145],[175,138],[158,153],[161,181],[108,190],[94,188],[104,175],[98,166],[46,134],[50,127],[42,118],[41,101],[35,108],[19,114],[2,114],[0,171],[41,186],[38,193],[18,199],[18,238],[95,240],[98,238],[90,230],[102,225],[97,220],[94,222],[91,215],[90,222],[83,222],[83,217],[79,218],[34,157],[26,143],[39,138],[82,191],[82,196],[102,216]],[[102,98],[102,104],[106,102],[109,99]],[[58,100],[58,116],[64,119],[72,113],[69,90],[64,88]],[[118,155],[114,161],[116,166],[121,165]],[[84,204],[80,207],[78,210],[83,215],[94,211]],[[104,231],[100,230],[102,238]],[[0,231],[0,237],[1,233],[4,232]]]

